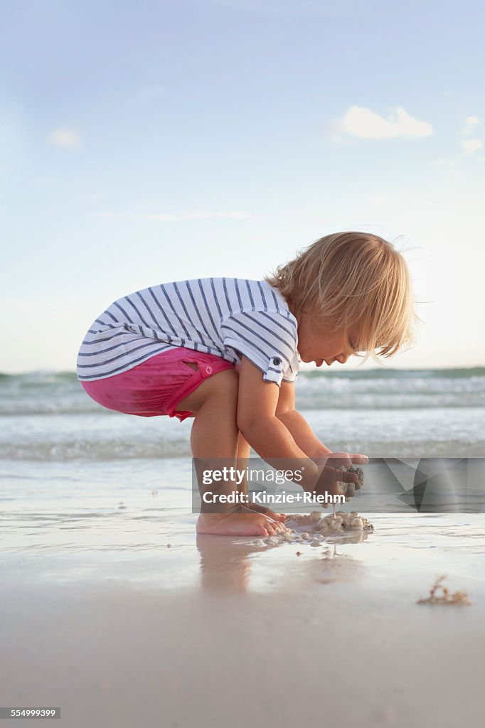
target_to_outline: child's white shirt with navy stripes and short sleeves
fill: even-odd
[[[197,278],[162,283],[114,301],[92,323],[77,358],[81,381],[106,379],[178,347],[234,365],[242,355],[278,386],[298,371],[297,322],[264,280]]]

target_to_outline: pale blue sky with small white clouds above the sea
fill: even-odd
[[[74,371],[116,298],[260,279],[339,230],[409,262],[422,323],[387,367],[485,365],[484,22],[467,0],[0,3],[0,371]]]

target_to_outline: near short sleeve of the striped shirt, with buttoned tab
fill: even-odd
[[[279,386],[292,376],[298,333],[291,312],[237,312],[223,320],[221,331],[224,346],[247,357],[262,371],[264,381]]]

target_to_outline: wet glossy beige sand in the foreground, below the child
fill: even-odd
[[[157,518],[158,544],[4,553],[1,705],[69,728],[482,725],[483,516],[378,514],[318,548]],[[416,604],[445,573],[473,604]]]

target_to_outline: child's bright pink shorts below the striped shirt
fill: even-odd
[[[197,364],[197,371],[186,362]],[[178,402],[224,369],[234,369],[234,364],[180,347],[156,354],[121,374],[81,384],[95,402],[108,409],[140,417],[165,414],[182,421],[194,413],[176,411]]]

